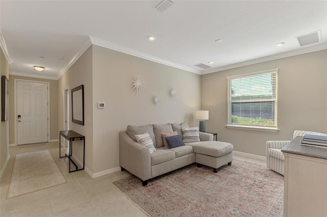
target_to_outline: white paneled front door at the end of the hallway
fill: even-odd
[[[48,142],[48,84],[17,81],[17,144]]]

